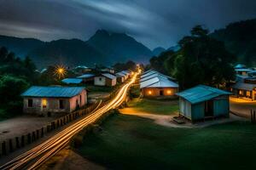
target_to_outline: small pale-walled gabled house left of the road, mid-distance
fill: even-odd
[[[113,87],[116,85],[116,77],[109,73],[102,73],[94,77],[94,85]]]

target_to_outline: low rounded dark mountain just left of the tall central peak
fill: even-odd
[[[44,42],[28,53],[39,67],[46,65],[94,65],[107,62],[104,54],[79,39]],[[108,63],[109,64],[109,63]]]

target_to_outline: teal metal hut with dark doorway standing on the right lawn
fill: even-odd
[[[199,85],[177,93],[179,112],[192,122],[230,115],[230,92]]]

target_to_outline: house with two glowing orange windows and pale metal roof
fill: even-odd
[[[142,80],[142,79],[141,79]],[[140,82],[143,97],[174,97],[178,91],[178,84],[160,74]]]

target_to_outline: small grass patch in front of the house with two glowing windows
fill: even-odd
[[[160,115],[171,115],[178,111],[177,100],[132,99],[128,106],[137,111]]]

